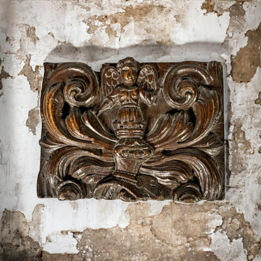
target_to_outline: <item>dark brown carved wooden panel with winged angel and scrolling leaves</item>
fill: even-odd
[[[222,64],[45,64],[38,196],[222,199]]]

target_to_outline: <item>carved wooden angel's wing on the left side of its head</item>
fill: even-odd
[[[111,94],[114,88],[122,84],[119,72],[113,66],[104,65],[101,69],[100,101]]]

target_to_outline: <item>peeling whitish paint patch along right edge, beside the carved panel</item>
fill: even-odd
[[[244,156],[245,162],[247,163],[246,169],[239,174],[233,173],[235,178],[232,176],[230,179],[230,186],[236,189],[232,188],[228,190],[226,199],[233,202],[238,213],[244,213],[246,220],[249,221],[253,229],[261,235],[259,221],[261,212],[256,205],[261,201],[261,185],[257,183],[257,178],[260,173],[260,153],[258,153],[258,150],[261,146],[261,139],[257,135],[257,132],[261,129],[259,117],[261,114],[261,106],[255,104],[255,99],[261,91],[261,68],[257,69],[249,83],[234,83],[231,77],[229,77],[228,80],[231,91],[235,93],[231,98],[233,110],[232,120],[241,119],[242,130],[245,133],[246,140],[250,142],[251,148],[249,149],[249,154]],[[240,149],[240,146],[245,145],[238,144],[238,146]]]

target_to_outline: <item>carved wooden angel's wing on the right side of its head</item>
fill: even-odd
[[[159,90],[160,86],[156,69],[148,64],[143,65],[137,78],[137,84],[148,92]]]

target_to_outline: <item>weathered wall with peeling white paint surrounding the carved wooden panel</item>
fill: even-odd
[[[224,63],[224,201],[38,199],[44,62]],[[0,0],[1,261],[261,261],[261,1]]]

